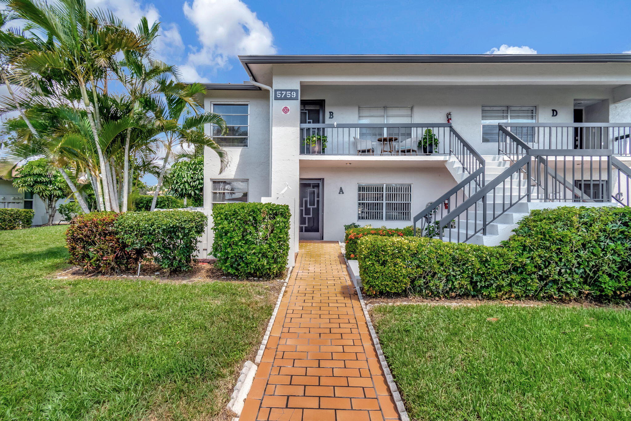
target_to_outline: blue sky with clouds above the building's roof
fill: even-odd
[[[237,54],[539,54],[631,50],[631,2],[88,0],[162,21],[158,55],[182,78],[247,80]],[[501,51],[504,51],[503,49]]]

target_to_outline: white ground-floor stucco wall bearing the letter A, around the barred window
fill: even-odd
[[[440,165],[440,166],[438,166]],[[456,181],[444,167],[443,162],[433,163],[432,167],[422,165],[401,165],[392,168],[359,167],[308,167],[300,169],[300,178],[324,179],[324,240],[343,240],[343,225],[355,222],[373,227],[385,225],[387,228],[403,228],[412,221],[367,221],[357,219],[357,185],[359,183],[401,183],[412,185],[413,217],[422,211],[445,191],[456,186]],[[344,194],[339,194],[342,187]]]

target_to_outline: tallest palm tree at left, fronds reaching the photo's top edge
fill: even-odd
[[[92,138],[97,150],[105,209],[112,210],[114,189],[109,160],[103,154],[103,122],[98,95],[104,89],[107,71],[114,67],[119,52],[147,49],[144,39],[125,28],[111,13],[93,12],[84,0],[57,0],[54,4],[38,0],[2,0],[28,27],[45,34],[47,49],[30,50],[16,57],[18,83],[33,85],[33,74],[47,77],[62,74],[78,85]],[[101,184],[99,184],[99,190]]]

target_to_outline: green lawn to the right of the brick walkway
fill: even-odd
[[[373,317],[413,419],[631,419],[629,311],[380,305]]]

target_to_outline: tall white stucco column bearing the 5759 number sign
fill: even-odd
[[[274,90],[300,89],[297,78],[276,76]],[[300,99],[274,100],[272,112],[270,196],[293,201],[292,225],[290,228],[290,256],[288,264],[293,266],[298,251],[298,198],[300,197]]]

